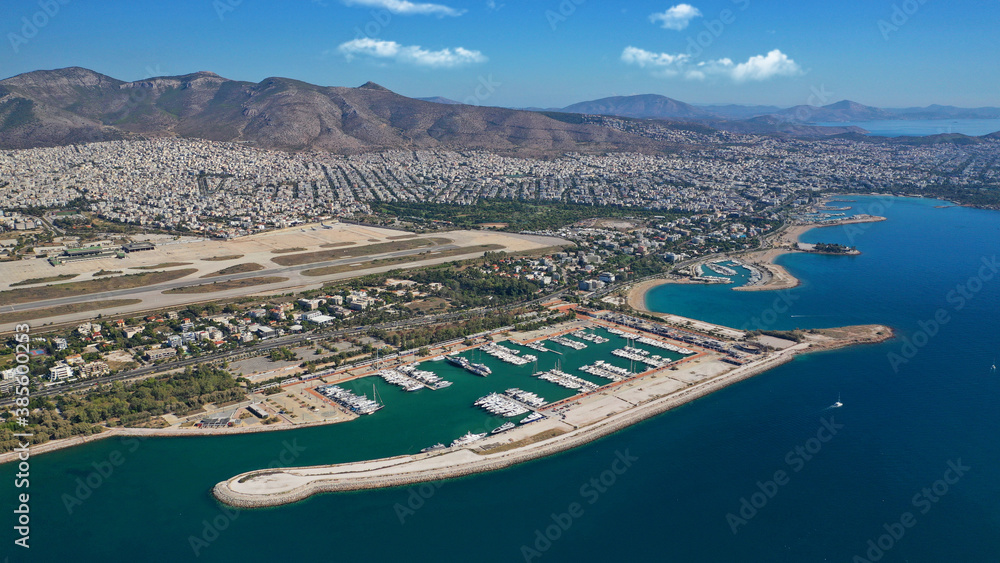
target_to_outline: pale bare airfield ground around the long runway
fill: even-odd
[[[398,230],[381,229],[376,227],[348,225],[348,224],[327,224],[304,225],[290,229],[270,231],[257,235],[241,237],[238,239],[219,241],[204,240],[195,238],[182,238],[174,240],[171,237],[161,237],[157,239],[156,249],[144,252],[127,254],[125,258],[104,258],[100,260],[68,262],[60,266],[52,266],[46,260],[18,260],[14,262],[0,263],[0,291],[9,287],[9,284],[25,279],[45,278],[56,274],[75,274],[70,283],[86,283],[92,280],[100,280],[102,287],[114,289],[118,276],[94,277],[94,274],[102,270],[125,270],[132,273],[152,273],[148,270],[138,268],[164,267],[164,264],[184,264],[187,266],[183,273],[178,276],[177,270],[170,270],[171,276],[177,276],[174,282],[150,285],[148,291],[132,290],[127,292],[108,291],[105,293],[95,293],[91,298],[79,297],[80,300],[90,302],[111,301],[107,307],[100,309],[63,308],[74,304],[73,299],[78,296],[65,295],[59,300],[52,300],[46,295],[42,295],[43,300],[15,300],[11,302],[0,302],[0,314],[26,312],[27,309],[48,309],[41,313],[42,316],[30,315],[34,320],[53,324],[71,323],[102,315],[124,315],[134,314],[141,311],[149,311],[161,308],[183,306],[211,299],[232,299],[246,295],[269,295],[272,293],[287,292],[289,290],[302,290],[321,287],[325,283],[335,280],[353,278],[372,273],[389,271],[395,268],[414,268],[440,264],[451,260],[462,260],[481,256],[484,248],[502,248],[509,253],[537,252],[540,249],[553,248],[557,245],[567,244],[562,239],[553,237],[541,237],[533,235],[520,235],[513,233],[503,233],[496,231],[448,231],[442,233],[442,237],[450,242],[441,243],[437,247],[425,249],[427,252],[419,260],[393,258],[393,254],[374,254],[378,258],[386,257],[385,262],[371,262],[371,258],[365,256],[363,247],[373,244],[385,245],[386,243],[395,245],[406,240],[413,240],[412,233],[401,233]],[[492,245],[498,245],[492,246]],[[356,262],[360,265],[349,269],[334,268],[328,274],[323,275],[303,275],[302,271],[284,271],[289,267],[279,266],[272,259],[281,256],[292,256],[290,254],[274,254],[272,251],[288,248],[302,248],[307,253],[329,252],[330,248],[350,248],[351,253],[358,256]],[[376,248],[385,248],[383,246]],[[461,249],[468,248],[467,253]],[[407,252],[421,252],[421,249],[413,249]],[[267,265],[263,270],[258,270],[259,275],[254,277],[280,277],[285,281],[275,281],[266,285],[252,285],[237,287],[239,284],[232,284],[233,287],[210,294],[198,293],[171,293],[164,294],[163,291],[178,286],[198,285],[204,280],[198,278],[210,274],[216,274],[220,270],[230,267],[239,267],[241,264],[262,264]],[[133,269],[136,268],[136,269]],[[296,267],[292,267],[293,269]],[[157,275],[164,275],[156,272]],[[248,276],[249,274],[235,274],[237,276]],[[215,277],[215,276],[213,276]],[[98,282],[95,282],[98,283]],[[222,280],[220,280],[220,285]],[[55,286],[58,287],[58,286]],[[41,287],[30,287],[24,289],[39,290]],[[50,290],[50,288],[46,288]],[[55,290],[59,292],[59,290]],[[62,292],[65,294],[66,292]],[[57,293],[58,294],[58,293]],[[129,301],[123,303],[119,298],[128,297],[138,302]],[[22,305],[9,306],[16,302],[23,302]],[[13,322],[0,317],[0,332],[12,330]]]

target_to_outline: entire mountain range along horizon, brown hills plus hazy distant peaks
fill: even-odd
[[[701,106],[656,94],[615,96],[555,110],[508,109],[442,97],[408,98],[372,82],[357,88],[279,77],[253,83],[211,72],[126,82],[79,67],[0,80],[3,149],[186,137],[339,153],[393,148],[531,155],[649,152],[679,147],[663,135],[650,134],[648,127],[644,132],[644,127],[622,126],[622,118],[701,133],[864,138],[866,131],[859,127],[815,123],[965,117],[998,118],[1000,109],[884,109],[847,100],[819,107]]]

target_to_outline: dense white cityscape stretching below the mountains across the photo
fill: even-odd
[[[109,221],[228,238],[368,214],[372,204],[386,202],[512,200],[740,213],[819,191],[920,192],[1000,182],[998,140],[905,145],[682,133],[701,148],[552,160],[449,151],[338,156],[176,139],[6,151],[0,225],[25,229],[19,209],[73,202]]]

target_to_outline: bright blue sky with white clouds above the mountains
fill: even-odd
[[[510,107],[1000,106],[996,1],[8,0],[3,14],[3,77],[210,70]]]

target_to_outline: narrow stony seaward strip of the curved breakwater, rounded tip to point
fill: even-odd
[[[521,441],[526,443],[514,449],[497,447],[496,453],[490,453],[488,449],[477,453],[473,448],[462,447],[444,453],[411,454],[336,465],[255,470],[219,482],[213,487],[212,494],[217,500],[238,508],[263,508],[298,502],[326,492],[398,487],[496,471],[603,438],[787,363],[798,354],[882,342],[892,336],[892,329],[883,325],[819,331],[811,335],[809,341],[774,352],[757,362],[737,367],[673,393],[654,396],[632,408],[608,413],[596,418],[596,422],[575,426],[572,430],[559,432],[537,442],[528,437]],[[636,383],[645,385],[646,381]],[[535,436],[545,436],[545,432],[536,433]]]

